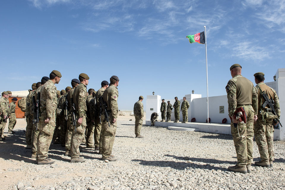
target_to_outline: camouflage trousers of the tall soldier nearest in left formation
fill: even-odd
[[[47,118],[42,116],[42,118]],[[48,157],[48,149],[50,148],[50,143],[53,140],[53,133],[55,126],[45,123],[45,119],[39,120],[39,136],[37,139],[37,158],[38,161],[42,161]]]

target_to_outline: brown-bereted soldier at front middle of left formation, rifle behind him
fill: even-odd
[[[78,77],[80,84],[74,89],[72,98],[75,104],[77,124],[72,132],[71,138],[71,160],[70,162],[85,162],[82,156],[80,156],[79,146],[85,136],[86,124],[86,99],[87,88],[89,83],[89,77],[85,73],[81,73]]]

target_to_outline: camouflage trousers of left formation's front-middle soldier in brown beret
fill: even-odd
[[[76,130],[75,130],[76,128]],[[86,129],[86,116],[83,116],[82,124],[77,123],[76,127],[73,127],[71,138],[71,158],[78,158],[80,156],[79,146],[85,136]]]

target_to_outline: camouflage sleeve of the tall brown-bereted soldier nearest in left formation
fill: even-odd
[[[57,108],[57,100],[56,100],[56,88],[51,87],[47,88],[47,99],[46,99],[46,110],[47,110],[47,117],[52,118],[54,112]]]

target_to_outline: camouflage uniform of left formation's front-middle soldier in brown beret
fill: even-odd
[[[73,103],[75,104],[76,110],[76,121],[81,117],[82,124],[76,124],[75,128],[72,131],[71,139],[71,159],[78,158],[80,156],[79,146],[85,136],[86,129],[86,98],[87,98],[87,89],[83,83],[80,83],[73,92],[72,95]]]

